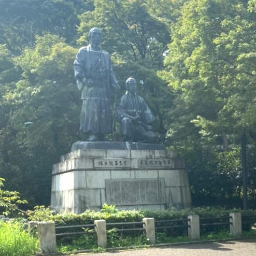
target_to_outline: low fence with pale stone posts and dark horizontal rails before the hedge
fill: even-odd
[[[154,218],[143,218],[143,221],[134,221],[134,222],[106,223],[105,220],[94,220],[93,224],[78,224],[78,225],[63,225],[63,226],[55,225],[54,222],[31,221],[27,223],[27,229],[32,235],[33,234],[38,235],[38,239],[40,241],[39,243],[40,248],[42,248],[42,245],[49,247],[48,245],[49,243],[52,244],[51,248],[55,248],[56,237],[58,236],[71,236],[71,235],[81,235],[81,234],[88,234],[88,235],[96,234],[95,239],[97,241],[97,245],[99,247],[105,248],[107,246],[107,239],[109,239],[107,237],[107,233],[110,232],[110,229],[112,227],[115,228],[116,232],[143,231],[144,235],[147,237],[150,243],[155,244],[155,231],[157,230],[166,230],[165,231],[166,234],[173,235],[173,234],[179,234],[179,233],[184,234],[185,229],[179,230],[179,228],[187,228],[188,237],[192,240],[195,240],[195,239],[200,239],[200,231],[208,230],[206,226],[229,225],[230,235],[233,237],[241,237],[242,230],[243,230],[242,225],[245,223],[253,224],[255,222],[256,222],[256,215],[241,216],[239,212],[232,212],[230,213],[229,216],[211,217],[211,218],[200,218],[200,216],[198,215],[190,215],[186,219],[154,220]],[[128,226],[128,228],[123,228],[123,226]],[[38,230],[37,233],[33,231],[34,227],[37,227],[37,230]],[[81,231],[81,229],[84,229],[84,230]],[[177,229],[177,230],[173,230],[173,229]],[[62,230],[65,230],[67,232],[62,232]],[[56,231],[59,231],[60,233],[56,233]],[[53,252],[55,251],[54,250],[49,251],[49,253],[53,253]]]

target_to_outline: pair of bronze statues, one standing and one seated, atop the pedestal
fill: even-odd
[[[88,46],[79,49],[74,61],[75,79],[82,99],[80,131],[89,134],[89,141],[102,141],[112,132],[110,103],[120,87],[110,55],[100,46],[101,30],[93,27],[89,41]],[[129,77],[125,87],[127,91],[114,113],[120,122],[123,141],[156,143],[158,137],[150,125],[155,118],[143,97],[136,94],[135,78]]]

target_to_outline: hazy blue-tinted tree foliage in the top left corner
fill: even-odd
[[[92,9],[91,1],[82,0],[0,0],[0,44],[19,54],[43,32],[74,42],[78,13]]]

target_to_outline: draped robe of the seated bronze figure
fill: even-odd
[[[139,116],[136,121],[129,118],[129,116],[135,117],[136,115]],[[148,129],[149,124],[155,120],[155,117],[143,97],[137,94],[132,97],[126,92],[120,99],[117,118],[121,124],[121,133],[124,138],[144,143],[155,143],[157,141],[157,136]]]

